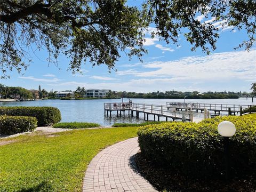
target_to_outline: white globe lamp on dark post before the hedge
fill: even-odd
[[[223,121],[218,125],[219,134],[224,137],[224,155],[226,161],[226,181],[229,180],[229,137],[232,137],[236,133],[236,127],[229,121]]]

